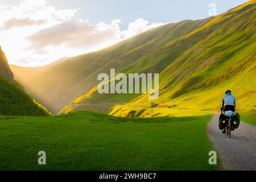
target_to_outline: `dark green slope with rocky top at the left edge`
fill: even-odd
[[[1,67],[0,73],[0,115],[50,115],[42,105],[32,100],[16,82],[10,82],[13,81],[13,73],[4,55],[0,49],[0,65],[5,65],[5,67]]]

